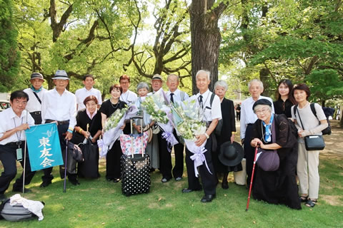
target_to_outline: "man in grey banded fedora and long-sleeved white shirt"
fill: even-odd
[[[43,123],[56,123],[59,130],[59,140],[61,148],[66,147],[66,139],[71,140],[74,126],[76,125],[76,97],[73,93],[66,90],[69,78],[66,71],[58,70],[54,78],[55,88],[47,91],[43,95],[41,104],[41,118]],[[44,176],[41,177],[43,182],[41,187],[51,184],[54,176],[51,174],[52,167],[44,170]],[[68,175],[69,181],[73,185],[79,185],[76,175]]]

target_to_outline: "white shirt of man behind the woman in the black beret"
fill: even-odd
[[[263,95],[260,95],[259,99],[267,99],[272,103],[272,113],[274,113],[274,105],[273,100],[271,98],[265,97]],[[255,100],[252,99],[252,97],[245,99],[242,102],[241,105],[241,140],[245,138],[245,131],[247,130],[247,125],[249,123],[255,123],[257,120],[257,115],[254,113],[254,110],[252,110],[252,106],[254,105]]]

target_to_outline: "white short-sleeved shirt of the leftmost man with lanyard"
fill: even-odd
[[[29,126],[34,125],[34,118],[32,118],[31,114],[27,110],[23,110],[21,112],[21,116],[19,117],[16,115],[16,113],[14,113],[11,107],[0,113],[0,120],[0,138],[4,135],[4,133],[6,133],[6,131],[19,127],[24,123],[28,123]],[[24,140],[26,140],[25,131],[21,130],[20,132],[18,131],[9,136],[9,138],[1,140],[0,145],[6,145],[9,142],[18,142]]]

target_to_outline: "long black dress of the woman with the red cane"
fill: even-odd
[[[286,115],[276,115],[275,133],[276,143],[282,147],[277,150],[280,158],[279,169],[267,172],[256,165],[252,195],[254,199],[264,200],[271,204],[286,204],[293,209],[301,209],[295,179],[298,144],[295,135],[290,133]],[[257,120],[253,125],[252,139],[259,138],[264,142],[262,134],[264,134],[262,120]],[[267,144],[270,143],[272,142]]]

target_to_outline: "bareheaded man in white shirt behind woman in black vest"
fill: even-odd
[[[85,75],[82,80],[82,83],[84,84],[84,88],[80,88],[75,92],[77,111],[86,108],[86,106],[84,105],[84,99],[86,99],[86,97],[90,95],[94,95],[94,97],[96,97],[96,99],[98,100],[98,108],[100,108],[102,98],[100,91],[96,88],[93,88],[94,76],[91,74]]]

